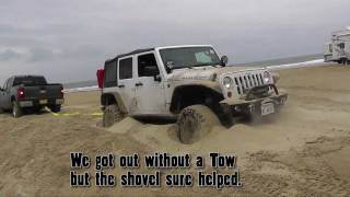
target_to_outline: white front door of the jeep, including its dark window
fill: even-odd
[[[137,57],[136,96],[139,115],[162,115],[165,111],[164,83],[154,54]]]

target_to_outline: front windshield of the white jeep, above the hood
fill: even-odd
[[[160,49],[163,63],[167,69],[221,65],[220,58],[211,47],[182,47]]]

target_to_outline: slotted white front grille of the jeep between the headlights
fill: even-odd
[[[254,86],[264,85],[262,73],[241,74],[234,77],[234,82],[237,85],[238,94],[244,94],[246,90]]]

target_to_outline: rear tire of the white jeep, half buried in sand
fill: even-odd
[[[120,121],[124,118],[124,113],[119,109],[119,107],[114,105],[107,105],[103,113],[103,126],[110,127],[115,123]]]

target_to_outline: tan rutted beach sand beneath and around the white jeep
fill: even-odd
[[[147,124],[127,117],[100,127],[100,92],[69,93],[60,116],[0,115],[0,196],[349,196],[350,68],[338,65],[280,71],[290,96],[279,117],[238,123],[190,146],[174,124]],[[96,114],[97,113],[97,114]],[[70,152],[91,158],[153,152],[235,154],[241,188],[71,188]],[[209,170],[206,167],[206,170]],[[120,175],[125,170],[110,170]],[[225,172],[226,170],[220,170]],[[82,170],[78,171],[82,172]],[[91,169],[93,172],[93,167]],[[141,167],[136,172],[152,173]],[[168,170],[171,173],[184,171]],[[195,169],[188,171],[195,173]]]

